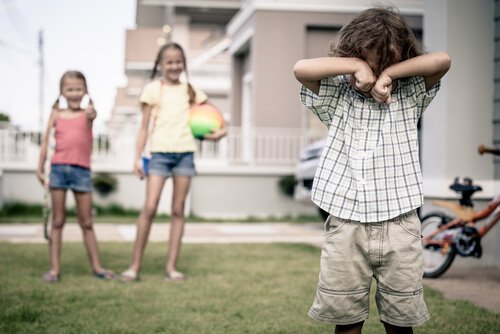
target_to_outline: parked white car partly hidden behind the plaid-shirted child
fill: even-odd
[[[325,142],[326,139],[315,141],[311,145],[307,146],[300,154],[299,162],[297,163],[297,167],[295,169],[297,185],[295,186],[294,198],[297,201],[309,202],[314,205],[311,201],[312,183]],[[324,219],[328,217],[328,213],[326,211],[320,208],[318,208],[318,211]]]

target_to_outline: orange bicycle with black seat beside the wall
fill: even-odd
[[[479,153],[500,155],[500,150],[479,147]],[[488,205],[474,211],[472,196],[481,191],[474,185],[472,179],[464,178],[460,183],[455,178],[450,189],[461,194],[459,203],[434,201],[434,205],[445,207],[453,212],[450,216],[444,212],[431,212],[422,218],[422,246],[424,277],[437,278],[443,275],[452,265],[455,257],[482,256],[481,239],[500,220],[500,195],[495,196]],[[476,228],[478,222],[489,220],[481,228]]]

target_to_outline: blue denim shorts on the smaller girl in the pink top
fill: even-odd
[[[52,165],[50,167],[50,188],[71,189],[78,192],[92,192],[90,169],[75,165]]]

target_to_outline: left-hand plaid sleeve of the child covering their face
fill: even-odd
[[[341,77],[328,77],[321,80],[318,94],[302,85],[300,100],[328,127],[339,104],[341,90]]]

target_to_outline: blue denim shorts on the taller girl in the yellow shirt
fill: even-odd
[[[158,176],[194,176],[193,152],[159,153],[154,152],[148,164],[148,175]]]

